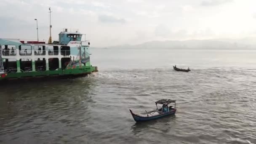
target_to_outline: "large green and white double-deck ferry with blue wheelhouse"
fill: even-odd
[[[97,72],[90,61],[90,41],[81,40],[82,35],[64,29],[53,43],[0,38],[0,80]]]

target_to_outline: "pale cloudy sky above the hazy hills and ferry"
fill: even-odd
[[[256,0],[1,0],[0,37],[37,40],[67,28],[93,47],[256,36]]]

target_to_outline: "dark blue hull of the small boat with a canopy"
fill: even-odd
[[[136,121],[136,122],[142,122],[142,121],[149,121],[149,120],[156,120],[156,119],[159,119],[161,117],[165,117],[165,116],[168,116],[168,115],[174,115],[175,112],[176,112],[176,109],[173,109],[172,111],[170,112],[167,112],[167,113],[163,113],[161,115],[155,115],[155,116],[152,116],[152,117],[141,117],[139,115],[136,115],[134,114],[131,109],[130,109],[130,112],[131,112],[131,115],[133,116],[133,119]]]

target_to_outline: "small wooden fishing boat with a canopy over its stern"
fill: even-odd
[[[174,108],[173,106],[168,107],[168,104],[174,103]],[[150,112],[144,112],[140,114],[135,114],[130,110],[131,115],[133,116],[133,119],[136,122],[141,122],[141,121],[148,121],[148,120],[155,120],[161,117],[165,117],[167,115],[174,115],[176,112],[176,101],[171,100],[171,99],[161,99],[159,101],[155,102],[155,105],[157,107],[157,104],[163,104],[163,107],[160,109],[156,109]]]

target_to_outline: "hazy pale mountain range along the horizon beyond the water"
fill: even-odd
[[[250,42],[250,43],[249,43]],[[215,39],[215,40],[167,40],[150,41],[139,45],[116,45],[105,48],[135,48],[135,49],[255,49],[256,42],[248,39]]]

